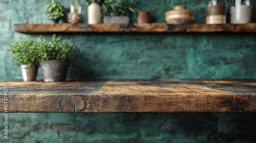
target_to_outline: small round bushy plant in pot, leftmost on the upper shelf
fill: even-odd
[[[58,2],[51,1],[46,4],[46,12],[52,23],[58,23],[59,19],[65,15],[66,10]]]

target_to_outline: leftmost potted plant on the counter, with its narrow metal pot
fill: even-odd
[[[24,40],[14,40],[8,52],[22,68],[23,81],[35,81],[39,65],[36,42],[30,37]]]

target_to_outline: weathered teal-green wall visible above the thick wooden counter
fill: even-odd
[[[0,67],[3,72],[0,81],[22,79],[19,67],[5,53],[11,38],[26,36],[13,32],[13,25],[49,23],[45,13],[47,2],[1,2]],[[69,7],[68,1],[59,2]],[[174,5],[183,4],[196,12],[195,22],[205,21],[206,1],[170,1],[169,6],[166,3],[139,1],[137,11],[151,11],[153,22],[165,22],[164,13]],[[82,11],[83,21],[87,22],[85,4]],[[131,23],[135,15],[131,16]],[[71,65],[68,78],[256,79],[256,36],[252,34],[73,34],[63,37],[73,39],[80,55]],[[42,79],[40,72],[37,79]]]

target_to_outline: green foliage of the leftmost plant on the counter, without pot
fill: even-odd
[[[37,56],[39,49],[37,43],[30,37],[24,40],[14,40],[8,52],[18,64],[28,64],[29,66],[39,65]]]

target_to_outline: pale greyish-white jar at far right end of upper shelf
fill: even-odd
[[[230,23],[244,24],[251,22],[252,7],[250,0],[233,0],[230,7]]]

